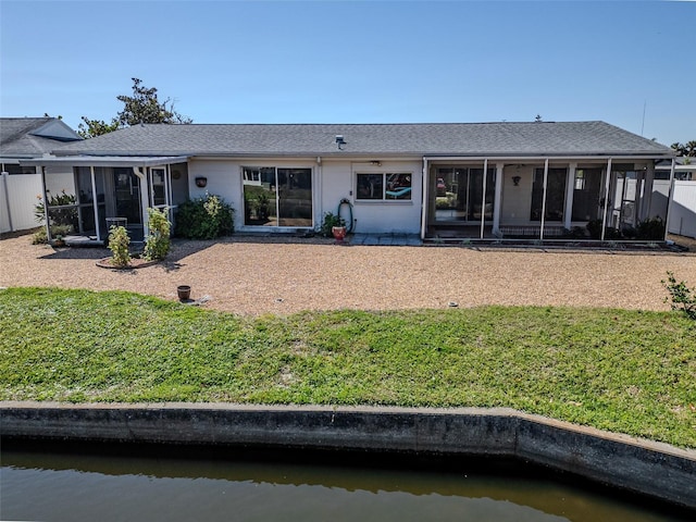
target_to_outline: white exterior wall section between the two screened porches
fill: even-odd
[[[377,159],[378,160],[378,159]],[[421,229],[422,162],[382,161],[381,166],[370,161],[347,161],[322,158],[196,160],[188,164],[188,188],[191,198],[216,194],[235,209],[235,229],[240,232],[278,229],[244,225],[243,166],[281,166],[312,169],[313,221],[319,228],[326,212],[336,213],[341,199],[352,206],[353,232],[419,234]],[[356,201],[356,172],[409,172],[412,175],[411,200]],[[196,186],[196,177],[208,178],[206,188]],[[346,207],[341,216],[348,219]],[[283,229],[283,228],[281,228]],[[293,228],[294,229],[294,228]]]

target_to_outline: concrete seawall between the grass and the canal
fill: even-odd
[[[510,409],[0,402],[3,437],[525,459],[696,509],[696,451]]]

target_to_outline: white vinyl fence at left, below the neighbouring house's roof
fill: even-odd
[[[0,233],[26,231],[39,226],[34,219],[37,195],[41,194],[40,174],[0,175]]]

